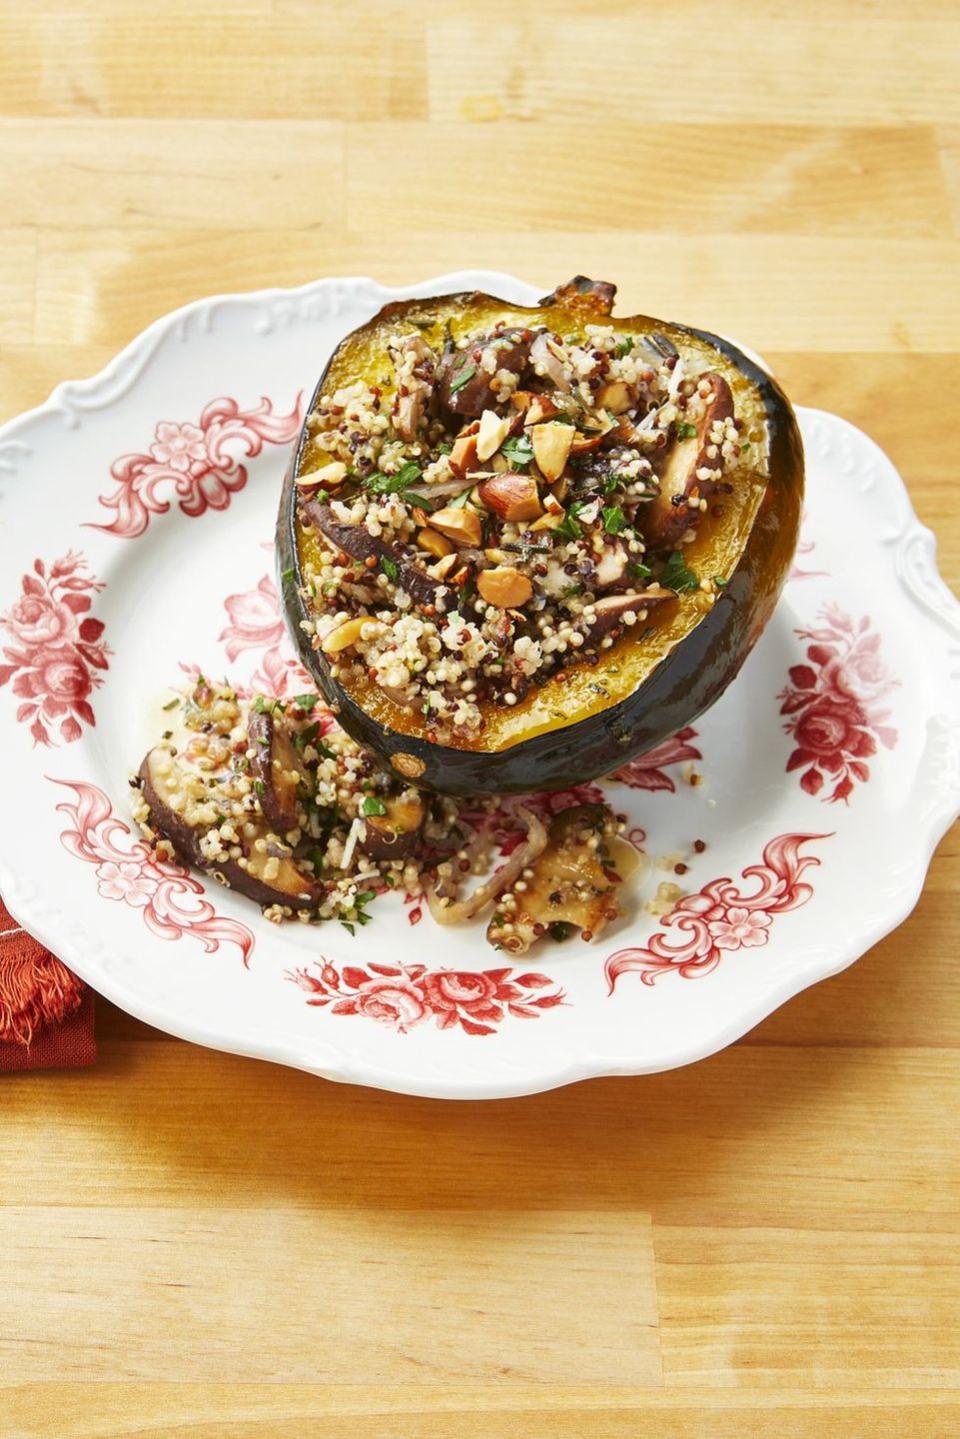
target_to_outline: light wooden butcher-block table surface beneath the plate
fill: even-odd
[[[214,291],[584,271],[868,430],[956,586],[959,66],[953,0],[4,0],[0,417]],[[957,849],[648,1079],[429,1104],[104,1004],[0,1081],[0,1435],[956,1435]]]

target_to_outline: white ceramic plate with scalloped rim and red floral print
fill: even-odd
[[[687,891],[600,941],[505,964],[482,928],[386,896],[351,940],[276,928],[154,863],[128,776],[180,666],[296,692],[276,613],[281,475],[334,344],[389,299],[331,279],[201,301],[0,432],[0,891],[99,993],[171,1033],[332,1079],[448,1098],[688,1063],[836,974],[920,894],[960,793],[960,606],[891,463],[800,410],[794,574],[723,701],[612,790]],[[701,783],[691,784],[691,780]],[[692,850],[704,840],[702,852]]]

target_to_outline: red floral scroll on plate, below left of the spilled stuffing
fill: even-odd
[[[207,954],[222,941],[236,944],[249,964],[253,931],[237,920],[226,920],[203,896],[203,885],[183,865],[157,859],[142,839],[131,839],[130,826],[117,819],[107,794],[95,784],[55,780],[75,793],[75,800],[58,804],[71,820],[60,835],[68,853],[96,866],[96,888],[104,899],[140,909],[144,924],[161,940],[199,940]],[[193,896],[184,904],[186,896]]]

